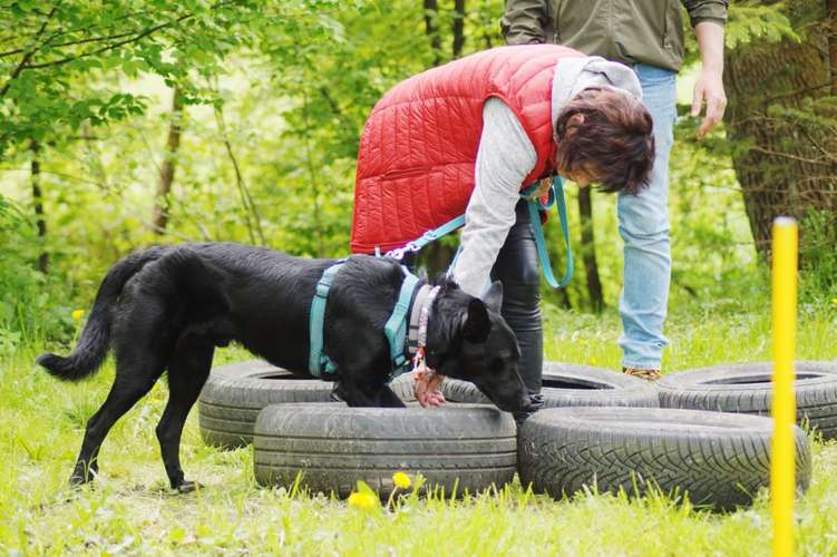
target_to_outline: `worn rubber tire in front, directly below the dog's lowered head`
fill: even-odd
[[[265,408],[255,424],[255,479],[263,486],[345,498],[366,481],[387,499],[392,473],[421,473],[425,490],[446,497],[500,488],[512,481],[517,461],[510,414],[485,405],[447,408],[348,408],[279,404]]]

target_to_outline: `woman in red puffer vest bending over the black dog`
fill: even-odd
[[[360,139],[352,252],[402,247],[465,213],[454,278],[475,296],[489,276],[503,282],[518,371],[538,393],[538,263],[519,192],[554,172],[581,187],[642,189],[654,139],[640,96],[626,66],[552,45],[477,52],[398,84]]]

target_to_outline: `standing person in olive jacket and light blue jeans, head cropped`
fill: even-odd
[[[705,116],[701,139],[727,105],[723,91],[723,26],[728,0],[682,0],[701,53],[692,116]],[[669,242],[669,154],[677,117],[677,72],[683,63],[683,23],[678,0],[507,0],[502,21],[509,45],[553,42],[630,66],[642,85],[654,120],[656,155],[649,187],[620,195],[619,231],[624,240],[624,286],[620,300],[623,371],[660,377],[671,250]]]

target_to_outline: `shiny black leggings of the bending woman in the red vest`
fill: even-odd
[[[541,324],[541,276],[535,235],[527,202],[515,207],[517,221],[508,231],[492,280],[503,282],[503,317],[517,335],[520,361],[517,369],[531,394],[541,392],[544,368],[544,330]]]

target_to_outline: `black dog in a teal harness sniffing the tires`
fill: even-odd
[[[87,422],[70,481],[93,479],[111,426],[168,370],[169,397],[157,438],[172,487],[194,489],[181,469],[181,433],[215,346],[236,341],[275,365],[305,372],[312,296],[333,264],[237,244],[184,244],[152,247],[114,265],[75,351],[67,358],[38,358],[52,375],[75,381],[96,371],[109,345],[116,355],[114,385]],[[366,255],[349,257],[334,277],[323,349],[338,368],[334,392],[350,405],[403,405],[387,385],[392,363],[383,334],[402,281],[397,262]],[[492,286],[485,302],[451,281],[438,284],[428,323],[428,367],[474,382],[503,410],[532,410],[517,373],[515,335],[499,315],[500,284]]]

